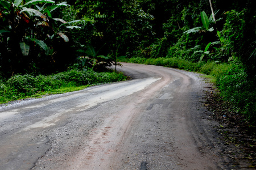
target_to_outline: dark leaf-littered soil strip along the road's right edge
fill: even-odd
[[[205,93],[209,118],[220,123],[215,128],[221,135],[223,163],[232,169],[256,169],[255,127],[249,126],[236,109],[222,100],[213,85]]]

